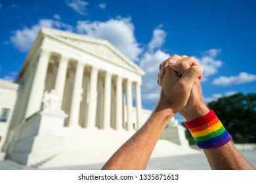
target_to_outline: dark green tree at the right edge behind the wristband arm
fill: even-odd
[[[208,103],[236,143],[256,142],[256,93],[237,93]]]

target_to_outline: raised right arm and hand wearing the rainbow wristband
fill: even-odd
[[[160,64],[158,84],[162,87],[171,85],[171,82],[164,83],[163,80],[167,67],[171,67],[173,71],[179,73],[179,76],[182,76],[184,71],[199,65],[193,57],[174,55]],[[186,106],[179,111],[179,114],[186,119],[186,125],[198,147],[203,149],[211,169],[255,169],[230,142],[232,137],[215,113],[212,110],[209,111],[205,106],[200,78],[202,78],[202,75],[194,80],[190,97]],[[180,89],[184,90],[185,88]],[[175,89],[171,87],[168,91],[170,93],[173,90]],[[176,96],[176,98],[179,97]]]

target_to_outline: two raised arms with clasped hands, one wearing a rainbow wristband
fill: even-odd
[[[145,124],[102,169],[146,169],[161,133],[179,112],[211,169],[255,169],[232,144],[232,137],[203,102],[203,69],[193,57],[174,55],[160,64],[160,100]]]

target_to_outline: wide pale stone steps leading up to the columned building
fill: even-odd
[[[39,169],[104,163],[134,133],[135,131],[111,129],[64,129],[63,152],[40,165]],[[160,139],[152,158],[197,153],[200,152],[191,148],[182,148],[173,142]]]

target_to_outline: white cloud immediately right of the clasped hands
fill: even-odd
[[[210,49],[204,52],[202,58],[196,58],[203,67],[203,81],[207,80],[207,77],[215,75],[223,64],[221,60],[215,59],[219,52],[221,52],[219,49]]]

